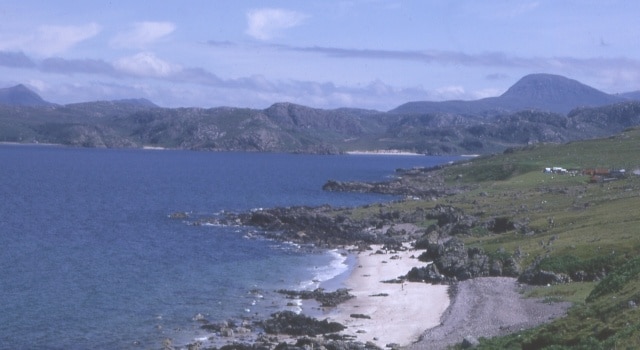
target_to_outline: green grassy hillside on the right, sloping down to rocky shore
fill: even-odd
[[[533,289],[531,296],[569,300],[575,307],[549,325],[483,339],[481,348],[638,348],[640,309],[633,305],[640,305],[640,176],[594,184],[587,176],[542,172],[553,166],[625,168],[631,173],[640,168],[640,129],[608,139],[536,145],[455,165],[445,170],[447,181],[474,184],[476,189],[433,202],[398,202],[388,210],[450,204],[483,220],[509,217],[525,228],[504,234],[476,232],[464,237],[465,243],[489,254],[519,250],[522,266],[542,259],[544,269],[554,272],[607,275],[600,283]],[[365,212],[354,214],[366,215],[366,209],[360,210]],[[626,270],[620,270],[622,266]]]

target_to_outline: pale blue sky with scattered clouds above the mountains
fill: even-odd
[[[532,73],[640,90],[637,0],[0,0],[0,88],[162,107],[386,111]]]

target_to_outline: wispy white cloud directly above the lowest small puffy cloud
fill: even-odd
[[[171,22],[138,22],[133,27],[119,33],[111,40],[111,45],[124,48],[144,48],[173,33],[176,29]]]

